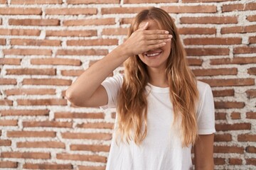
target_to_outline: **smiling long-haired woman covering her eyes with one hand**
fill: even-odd
[[[124,75],[106,79],[124,62]],[[109,170],[213,169],[214,103],[196,81],[174,21],[161,8],[137,14],[129,38],[66,91],[76,106],[117,108]]]

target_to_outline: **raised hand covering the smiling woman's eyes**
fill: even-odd
[[[166,42],[171,41],[172,36],[167,30],[146,30],[149,22],[134,31],[123,43],[129,56],[139,55],[143,52],[163,47]]]

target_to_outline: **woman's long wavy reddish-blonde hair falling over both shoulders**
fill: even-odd
[[[174,122],[181,120],[181,140],[183,147],[194,144],[198,136],[196,123],[196,103],[198,89],[196,77],[188,67],[177,28],[169,13],[161,8],[149,8],[137,14],[129,29],[132,35],[142,21],[154,20],[173,36],[171,52],[166,64],[170,100],[174,109]],[[131,56],[124,62],[124,81],[119,91],[117,114],[118,129],[122,139],[134,140],[139,145],[146,137],[147,101],[145,87],[149,82],[146,64],[139,56]],[[171,113],[170,113],[171,114]]]

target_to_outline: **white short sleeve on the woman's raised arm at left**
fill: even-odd
[[[114,77],[110,77],[105,79],[105,81],[102,82],[102,86],[107,91],[107,105],[102,106],[101,108],[115,108],[117,107],[117,96],[119,93],[119,89],[122,86],[123,82],[123,75],[117,74]]]

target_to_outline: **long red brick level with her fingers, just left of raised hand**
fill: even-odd
[[[117,39],[67,40],[70,46],[118,45]]]

